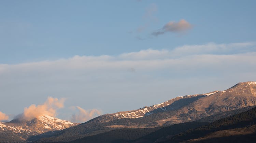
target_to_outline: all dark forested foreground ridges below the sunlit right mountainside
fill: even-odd
[[[256,108],[213,123],[186,122],[167,127],[122,128],[72,143],[255,142]],[[245,139],[245,137],[250,137]],[[242,138],[242,139],[241,139]],[[225,139],[225,140],[223,140]],[[63,142],[64,143],[64,142]]]

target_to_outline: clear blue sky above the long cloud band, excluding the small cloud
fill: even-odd
[[[255,1],[5,0],[0,13],[4,64],[256,37]],[[167,22],[181,19],[193,24],[193,29],[182,35],[151,35]],[[138,28],[144,29],[137,32]]]

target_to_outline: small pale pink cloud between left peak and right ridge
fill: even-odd
[[[76,123],[86,122],[102,114],[102,111],[98,109],[85,110],[79,106],[76,108],[79,109],[79,114],[73,114],[71,117],[71,121]]]

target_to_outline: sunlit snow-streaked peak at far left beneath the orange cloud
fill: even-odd
[[[49,136],[54,131],[78,125],[65,120],[42,115],[29,121],[14,119],[10,122],[0,123],[0,142],[25,142],[31,137]],[[32,138],[31,138],[32,139]]]

